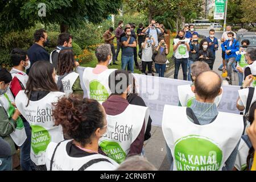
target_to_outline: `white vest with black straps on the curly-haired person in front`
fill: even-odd
[[[53,158],[52,171],[80,171],[86,163],[93,159],[106,159],[109,162],[103,161],[92,164],[92,166],[86,168],[85,171],[113,171],[119,166],[116,162],[114,162],[114,160],[101,154],[93,154],[77,158],[69,156],[66,147],[67,143],[70,141],[71,140],[65,140],[64,142],[61,142],[57,147]],[[49,143],[46,150],[46,166],[48,171],[51,167],[51,158],[56,146],[57,143],[51,142]]]

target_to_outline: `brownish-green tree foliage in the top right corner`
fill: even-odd
[[[241,3],[241,9],[243,11],[243,18],[241,19],[244,23],[256,22],[256,1],[255,0],[243,0]]]

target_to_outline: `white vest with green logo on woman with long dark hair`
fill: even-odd
[[[39,101],[30,101],[28,106],[24,90],[15,98],[16,107],[32,129],[30,157],[37,166],[46,164],[44,155],[49,142],[60,142],[64,139],[62,127],[53,126],[55,123],[52,117],[52,103],[57,102],[64,94],[50,92]]]

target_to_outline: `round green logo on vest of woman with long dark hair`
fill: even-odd
[[[31,147],[36,155],[46,151],[48,144],[51,142],[51,136],[44,127],[39,125],[31,125]]]

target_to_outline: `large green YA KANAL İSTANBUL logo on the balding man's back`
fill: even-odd
[[[199,135],[177,140],[174,156],[178,171],[217,171],[222,162],[220,148],[209,138]]]

